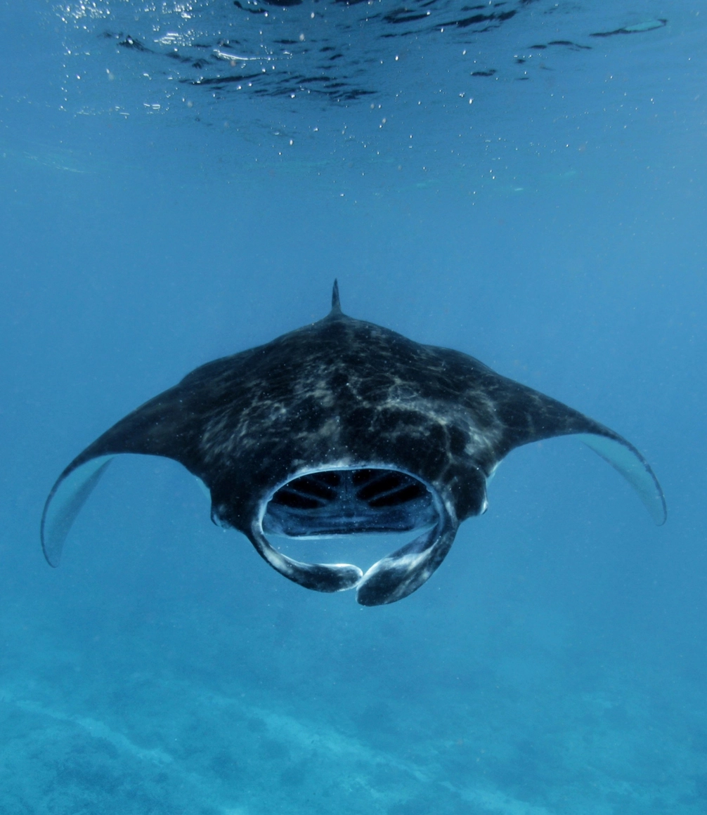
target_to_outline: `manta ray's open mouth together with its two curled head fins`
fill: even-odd
[[[320,592],[356,588],[364,606],[400,600],[421,586],[449,552],[457,521],[433,487],[399,469],[357,467],[304,473],[276,487],[250,526],[258,553],[281,575]],[[307,563],[273,548],[266,533],[324,538],[419,531],[365,573],[351,563]]]

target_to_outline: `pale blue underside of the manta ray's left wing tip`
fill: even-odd
[[[50,566],[59,566],[68,532],[112,460],[113,456],[89,459],[61,475],[52,488],[42,513],[42,550]]]

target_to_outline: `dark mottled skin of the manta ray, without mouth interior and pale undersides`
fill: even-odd
[[[63,479],[91,459],[167,456],[209,487],[214,520],[245,533],[281,574],[320,591],[358,586],[360,602],[378,605],[435,571],[458,524],[484,511],[486,479],[514,447],[597,434],[628,448],[652,475],[634,447],[581,413],[459,351],[343,315],[336,286],[333,302],[325,319],[203,365],[119,421],[64,470],[45,517]],[[262,520],[276,488],[308,470],[366,467],[424,482],[435,495],[436,526],[366,575],[347,564],[294,562],[272,548]]]

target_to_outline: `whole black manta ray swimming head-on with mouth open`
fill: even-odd
[[[407,597],[440,566],[459,524],[515,447],[577,434],[638,491],[657,524],[665,497],[625,438],[457,350],[421,345],[342,312],[216,359],[86,447],[46,500],[42,548],[58,566],[77,513],[114,456],[179,461],[210,493],[211,518],[241,531],[305,588],[356,588],[364,606]],[[418,535],[365,573],[298,562],[267,535]]]

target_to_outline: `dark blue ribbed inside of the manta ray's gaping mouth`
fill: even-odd
[[[263,529],[288,537],[403,532],[437,518],[431,491],[396,469],[330,469],[283,484],[272,495]]]

